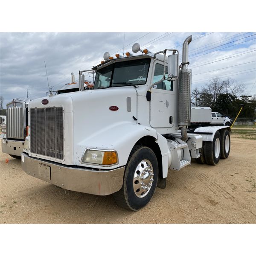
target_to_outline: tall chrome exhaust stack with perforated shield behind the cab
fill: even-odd
[[[182,64],[179,70],[179,95],[178,95],[178,125],[181,127],[181,140],[188,140],[187,125],[190,125],[191,111],[191,76],[189,66],[189,44],[192,41],[190,35],[183,43]]]

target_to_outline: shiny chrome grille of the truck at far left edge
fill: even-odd
[[[10,139],[24,140],[26,135],[26,106],[22,103],[7,105],[6,136]]]

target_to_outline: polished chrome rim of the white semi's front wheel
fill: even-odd
[[[142,160],[136,167],[133,179],[134,193],[138,198],[145,197],[150,191],[154,170],[149,160]]]

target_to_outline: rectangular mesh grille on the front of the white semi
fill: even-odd
[[[63,108],[30,109],[31,153],[62,160],[63,139]]]

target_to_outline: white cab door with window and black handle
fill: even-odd
[[[166,67],[167,73],[167,67]],[[156,61],[151,84],[163,77],[163,63]],[[150,126],[171,128],[175,118],[175,90],[171,81],[164,80],[151,88]]]

